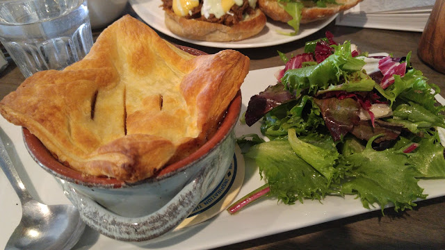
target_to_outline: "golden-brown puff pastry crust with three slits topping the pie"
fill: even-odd
[[[248,69],[238,51],[192,56],[127,15],[83,60],[27,78],[0,113],[61,163],[135,182],[200,147]]]

